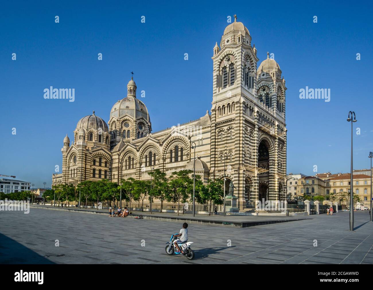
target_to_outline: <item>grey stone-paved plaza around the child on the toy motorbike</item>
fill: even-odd
[[[31,208],[0,212],[1,264],[372,264],[367,211],[248,228],[190,224],[195,259],[164,250],[181,223]],[[59,246],[56,247],[56,240]],[[231,246],[228,246],[228,243]],[[317,240],[317,246],[314,246]],[[145,245],[144,245],[145,244]]]

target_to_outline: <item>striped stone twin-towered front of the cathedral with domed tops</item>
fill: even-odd
[[[278,64],[264,61],[259,74],[257,49],[236,15],[212,60],[210,178],[225,172],[225,191],[232,180],[241,204],[283,199],[286,87]]]

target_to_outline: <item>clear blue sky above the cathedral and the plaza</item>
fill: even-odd
[[[63,138],[73,140],[76,123],[93,110],[109,121],[132,70],[138,92],[146,92],[141,100],[153,132],[206,114],[213,47],[234,14],[250,31],[259,63],[274,53],[286,80],[287,172],[314,174],[314,165],[319,172],[347,172],[349,110],[361,128],[353,138],[354,168],[369,167],[371,1],[78,2],[1,4],[0,174],[50,186],[54,166],[62,168]],[[75,102],[44,100],[50,86],[75,88]],[[305,86],[330,88],[331,101],[300,100]]]

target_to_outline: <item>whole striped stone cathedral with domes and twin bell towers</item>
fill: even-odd
[[[236,187],[238,204],[284,200],[286,174],[285,79],[267,53],[257,68],[257,49],[248,29],[229,24],[213,48],[213,97],[210,112],[197,120],[152,132],[150,114],[137,98],[133,79],[116,101],[109,121],[95,112],[79,120],[73,142],[66,135],[62,173],[52,184],[133,177],[148,180],[159,168],[191,169],[205,184],[225,176]],[[195,156],[195,159],[194,159]],[[60,181],[59,181],[60,180]]]

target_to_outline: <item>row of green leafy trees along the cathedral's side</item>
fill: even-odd
[[[193,196],[193,171],[181,170],[175,171],[170,177],[159,169],[155,169],[148,173],[151,176],[150,180],[136,180],[132,177],[120,180],[120,183],[113,183],[107,179],[99,181],[85,180],[77,185],[59,184],[52,186],[51,190],[46,190],[43,197],[49,200],[56,196],[58,206],[69,201],[77,202],[79,200],[79,192],[81,201],[87,202],[112,201],[112,204],[119,201],[120,192],[122,200],[129,202],[141,202],[142,208],[144,201],[154,202],[155,199],[163,203],[175,202],[180,203],[191,202]],[[195,175],[195,201],[199,204],[209,204],[209,212],[211,214],[212,205],[223,204],[223,180],[209,180],[207,185],[201,180],[201,176]],[[179,215],[178,206],[178,215]]]

